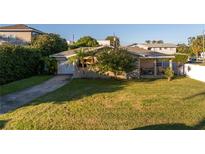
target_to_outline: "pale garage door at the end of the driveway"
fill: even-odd
[[[75,64],[66,61],[58,61],[58,74],[73,74]]]

